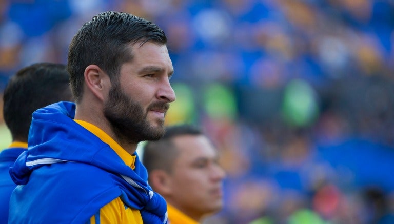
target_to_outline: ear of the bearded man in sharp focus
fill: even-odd
[[[84,73],[87,88],[101,101],[104,101],[111,82],[107,73],[97,65],[89,65]]]

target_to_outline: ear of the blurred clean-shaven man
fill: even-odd
[[[162,196],[172,192],[171,176],[164,170],[153,170],[149,173],[149,185]]]

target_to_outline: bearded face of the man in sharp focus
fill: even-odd
[[[112,82],[104,115],[115,135],[137,143],[164,134],[164,116],[175,93],[169,83],[172,63],[165,45],[132,46],[133,60],[121,67],[119,83]]]

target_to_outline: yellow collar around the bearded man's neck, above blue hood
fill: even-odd
[[[134,169],[135,155],[130,155],[125,149],[123,149],[113,138],[111,138],[107,133],[101,130],[99,127],[90,124],[84,120],[74,120],[76,123],[86,128],[88,131],[93,133],[95,136],[99,137],[102,141],[109,145],[116,152],[116,154],[121,157],[123,162]]]

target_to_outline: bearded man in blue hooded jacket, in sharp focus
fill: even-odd
[[[10,169],[9,223],[167,222],[135,153],[162,137],[175,100],[166,43],[151,22],[112,11],[76,33],[67,65],[75,104],[33,114],[29,150]]]

